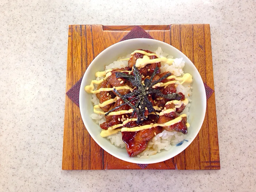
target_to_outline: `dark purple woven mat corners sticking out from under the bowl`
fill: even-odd
[[[136,38],[147,38],[147,39],[153,39],[145,30],[143,30],[141,27],[136,26],[134,27],[125,37],[121,39],[121,41],[125,41],[127,39],[136,39]],[[73,87],[71,87],[70,90],[67,91],[67,96],[73,101],[78,107],[79,107],[79,91],[80,91],[80,86],[82,82],[82,78],[79,79],[78,82],[75,83]],[[208,99],[211,94],[213,94],[213,90],[207,86],[204,83],[205,86],[205,92],[206,92],[206,99]],[[142,169],[145,169],[148,164],[137,164],[139,167]]]

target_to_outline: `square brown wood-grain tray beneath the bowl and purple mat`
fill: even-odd
[[[104,49],[119,42],[134,26],[70,25],[67,49],[68,91]],[[182,24],[141,26],[154,39],[181,50],[197,67],[203,82],[214,89],[210,25]],[[66,95],[63,170],[143,169],[105,152],[87,132],[79,107]],[[145,169],[220,169],[214,93],[207,100],[203,126],[195,140],[172,159]]]

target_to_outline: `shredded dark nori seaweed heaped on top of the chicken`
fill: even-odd
[[[130,81],[134,87],[137,87],[137,89],[134,90],[132,93],[128,93],[126,95],[121,95],[116,89],[114,89],[113,92],[116,95],[118,95],[118,97],[123,99],[124,103],[115,107],[114,109],[110,110],[109,112],[114,111],[115,109],[117,109],[118,107],[120,107],[124,104],[127,104],[133,109],[133,113],[131,114],[131,117],[133,117],[133,115],[136,113],[138,116],[137,124],[140,124],[143,119],[147,119],[147,117],[145,117],[146,107],[147,107],[147,110],[149,111],[149,113],[155,112],[152,103],[148,99],[149,94],[155,93],[158,96],[168,98],[171,100],[180,100],[181,96],[178,95],[177,93],[164,95],[164,94],[162,94],[162,92],[160,90],[153,89],[152,86],[161,82],[163,79],[165,79],[171,75],[171,73],[168,73],[168,74],[164,75],[163,77],[161,77],[160,79],[158,79],[157,81],[153,81],[158,70],[159,70],[159,67],[156,67],[153,74],[151,75],[150,79],[146,78],[144,80],[144,85],[142,84],[141,74],[139,73],[139,70],[137,69],[137,67],[135,67],[135,65],[133,66],[133,75],[129,75],[129,74],[122,73],[122,72],[116,72],[115,75],[117,78],[125,78],[127,81]],[[135,105],[133,105],[131,103],[131,101],[134,100],[135,98],[131,99],[130,101],[127,100],[127,98],[133,97],[133,96],[135,96],[135,98],[138,99],[137,102],[135,103]],[[106,113],[105,115],[108,115],[109,112]]]

